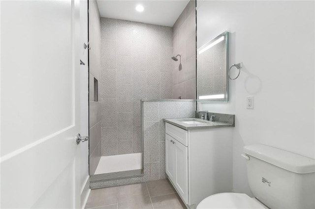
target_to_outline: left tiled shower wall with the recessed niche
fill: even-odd
[[[89,1],[89,129],[90,175],[94,175],[101,157],[101,78],[100,78],[100,16],[96,0]],[[98,81],[98,101],[94,94],[94,82]]]

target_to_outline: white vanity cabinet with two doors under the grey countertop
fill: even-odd
[[[165,123],[165,172],[191,209],[232,191],[232,128],[185,130]]]

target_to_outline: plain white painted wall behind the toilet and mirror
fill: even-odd
[[[230,32],[229,65],[243,62],[230,80],[226,104],[198,109],[235,113],[233,187],[251,194],[243,146],[266,144],[315,158],[314,1],[197,1],[197,47]],[[254,96],[254,109],[246,97]]]

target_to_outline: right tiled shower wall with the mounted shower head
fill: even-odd
[[[173,55],[181,54],[173,62],[173,99],[196,99],[196,10],[190,0],[173,26]],[[179,57],[178,57],[179,58]]]

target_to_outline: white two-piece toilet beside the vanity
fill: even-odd
[[[315,159],[266,145],[245,146],[244,153],[256,198],[218,193],[203,199],[197,209],[315,209]]]

